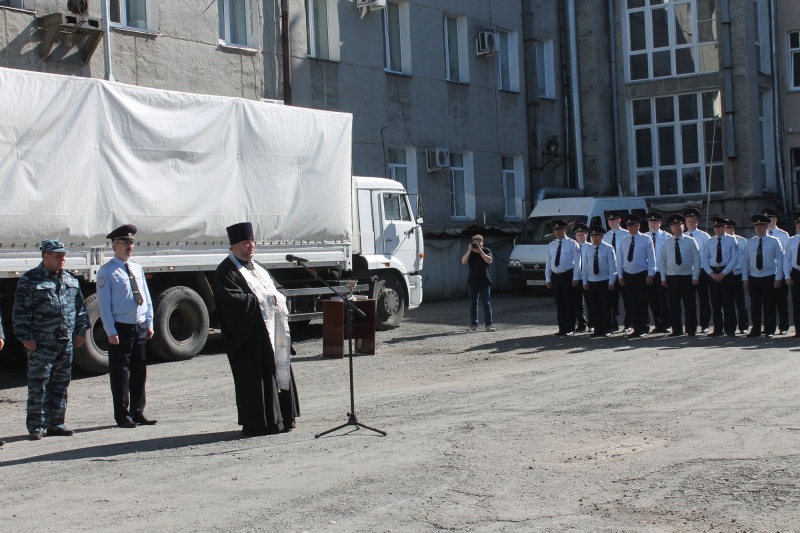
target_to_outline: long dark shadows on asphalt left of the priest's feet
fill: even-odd
[[[115,426],[108,426],[108,427],[115,427]],[[85,430],[75,430],[75,432],[79,433],[82,431],[96,431],[99,429],[105,429],[105,426],[97,428],[89,428]],[[45,461],[74,461],[76,459],[103,460],[106,458],[128,455],[133,453],[184,448],[186,446],[196,446],[198,444],[214,444],[217,442],[242,440],[244,438],[245,437],[242,436],[241,431],[221,431],[218,433],[199,433],[197,435],[183,435],[180,437],[163,437],[158,439],[135,440],[135,441],[115,443],[115,444],[103,444],[100,446],[89,446],[86,448],[78,448],[76,450],[64,450],[60,452],[47,453],[33,457],[26,457],[24,459],[16,459],[13,461],[0,461],[0,468],[4,466],[24,465],[29,463],[37,463]],[[7,438],[4,440],[6,440],[6,442],[13,442],[25,439],[27,439],[27,435],[21,437]]]

